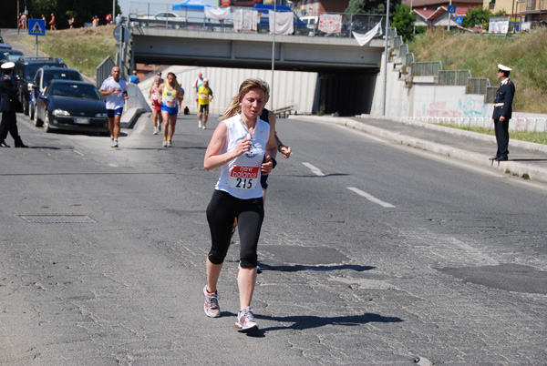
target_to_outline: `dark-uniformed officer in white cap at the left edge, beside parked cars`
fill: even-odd
[[[9,132],[14,137],[15,147],[27,147],[17,131],[17,119],[15,116],[17,89],[13,78],[15,64],[6,62],[2,65],[4,76],[0,79],[0,112],[2,112],[2,123],[0,123],[0,147],[9,147],[5,143],[5,137]]]

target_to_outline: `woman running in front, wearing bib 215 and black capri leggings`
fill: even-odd
[[[214,130],[203,161],[206,170],[221,168],[207,207],[207,221],[212,245],[206,259],[207,284],[203,288],[203,310],[211,318],[221,316],[217,282],[232,239],[233,220],[239,221],[240,267],[237,283],[240,311],[235,327],[241,331],[258,330],[251,308],[256,283],[257,245],[262,228],[264,208],[260,175],[272,171],[272,160],[266,156],[268,141],[274,131],[259,118],[265,101],[263,80],[247,79]],[[264,162],[265,156],[265,162]]]

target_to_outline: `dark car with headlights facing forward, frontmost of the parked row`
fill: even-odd
[[[98,132],[108,136],[105,101],[91,83],[72,80],[51,80],[36,100],[35,125],[44,125],[46,132],[64,129]]]

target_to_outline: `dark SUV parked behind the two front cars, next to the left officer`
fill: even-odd
[[[30,100],[30,90],[32,90],[32,82],[36,71],[40,67],[67,67],[63,60],[57,57],[19,57],[15,61],[14,75],[17,80],[17,89],[19,90],[20,104],[19,109],[28,115],[28,101]]]

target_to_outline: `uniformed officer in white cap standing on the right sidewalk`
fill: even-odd
[[[506,161],[509,159],[509,120],[512,114],[512,99],[515,95],[515,85],[509,79],[510,71],[510,67],[498,65],[498,79],[501,80],[501,86],[496,92],[494,113],[492,114],[498,151],[496,156],[490,160]]]

